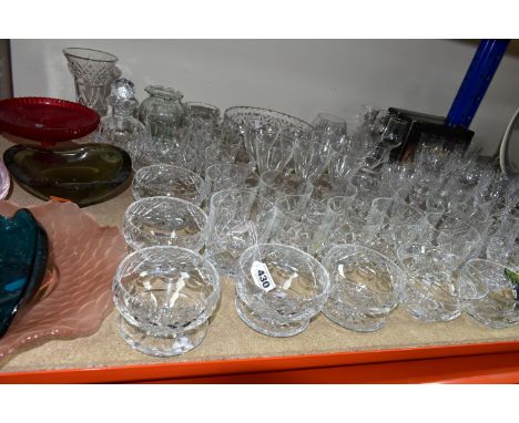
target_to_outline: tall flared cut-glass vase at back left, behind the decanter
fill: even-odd
[[[109,95],[106,86],[114,80],[118,58],[104,51],[81,48],[63,49],[63,54],[74,76],[75,100],[104,116]]]

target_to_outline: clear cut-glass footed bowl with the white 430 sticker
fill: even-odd
[[[268,274],[268,290],[261,281]],[[329,276],[315,258],[295,247],[260,244],[240,257],[236,311],[260,333],[292,337],[308,326],[328,298]]]

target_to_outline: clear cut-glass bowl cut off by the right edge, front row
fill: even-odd
[[[516,271],[489,260],[467,261],[459,274],[464,311],[493,329],[518,324],[519,277]]]

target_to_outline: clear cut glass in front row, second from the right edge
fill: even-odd
[[[462,258],[427,241],[404,244],[397,256],[407,277],[401,305],[415,319],[437,322],[460,316],[460,290],[454,271]]]

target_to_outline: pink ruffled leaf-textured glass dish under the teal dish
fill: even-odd
[[[10,217],[19,208],[0,200],[0,215]],[[94,333],[113,307],[113,276],[126,255],[118,228],[100,226],[73,203],[27,208],[49,236],[49,265],[35,297],[0,339],[0,363],[33,343]]]

